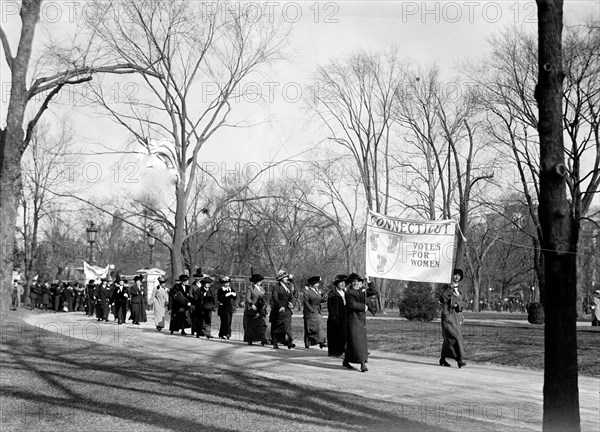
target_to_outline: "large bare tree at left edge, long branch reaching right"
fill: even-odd
[[[97,56],[94,32],[82,32],[77,47],[48,49],[45,61],[31,68],[35,30],[39,23],[42,0],[22,0],[21,32],[15,54],[4,28],[0,41],[4,51],[3,73],[10,72],[10,98],[5,126],[0,129],[0,313],[8,310],[11,296],[13,248],[19,191],[21,159],[29,146],[33,131],[53,99],[68,85],[92,79],[100,72],[130,73],[139,71],[129,64],[106,63]],[[57,26],[60,24],[57,24]],[[56,55],[60,52],[60,55]],[[41,99],[41,103],[36,102]],[[32,113],[31,116],[28,115]]]

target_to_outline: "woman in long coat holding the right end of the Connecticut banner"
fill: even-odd
[[[459,368],[466,366],[463,360],[464,347],[462,340],[462,315],[460,312],[467,306],[463,300],[462,293],[458,290],[458,285],[463,279],[463,271],[454,269],[452,273],[452,283],[443,286],[440,303],[442,304],[442,355],[440,357],[440,366],[450,367],[446,357],[456,360]]]

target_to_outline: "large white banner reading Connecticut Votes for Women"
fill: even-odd
[[[416,221],[367,214],[367,275],[450,283],[456,222]]]

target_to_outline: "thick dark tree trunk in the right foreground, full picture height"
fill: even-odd
[[[545,259],[544,431],[580,431],[577,226],[569,210],[562,135],[562,0],[537,0],[540,205]]]

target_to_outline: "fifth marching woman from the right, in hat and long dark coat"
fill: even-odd
[[[271,294],[271,339],[273,348],[279,348],[278,344],[284,344],[288,349],[296,347],[292,337],[292,309],[294,308],[294,287],[289,282],[289,274],[280,271],[277,274],[279,282]]]

